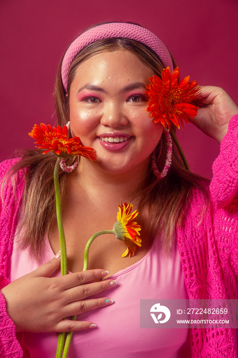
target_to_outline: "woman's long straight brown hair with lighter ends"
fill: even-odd
[[[140,61],[152,69],[161,77],[161,71],[164,68],[161,60],[156,53],[146,45],[127,38],[108,38],[98,40],[89,44],[74,58],[69,68],[68,75],[68,96],[66,95],[62,79],[61,64],[55,84],[55,108],[59,125],[65,125],[69,120],[69,96],[70,85],[74,79],[78,65],[91,56],[108,51],[126,49],[135,54]],[[175,60],[173,64],[176,66]],[[175,130],[174,125],[172,127]],[[144,206],[149,207],[150,216],[150,235],[156,236],[159,230],[164,233],[165,247],[169,248],[174,237],[175,228],[181,225],[184,217],[184,209],[189,204],[192,190],[197,187],[207,198],[206,190],[201,181],[201,177],[187,171],[180,159],[178,151],[173,143],[173,156],[171,169],[160,181],[155,180],[153,171],[150,169],[145,180],[137,189],[140,210]],[[157,165],[161,171],[166,158],[166,141],[162,136],[157,145]],[[68,160],[67,165],[72,164]],[[40,150],[26,151],[13,168],[11,173],[27,167],[26,185],[23,193],[22,219],[19,230],[22,230],[22,240],[20,247],[22,249],[30,246],[30,252],[35,257],[39,257],[44,243],[44,237],[49,234],[51,227],[56,219],[55,209],[55,191],[53,180],[53,168],[56,162],[56,156],[52,152],[45,155]],[[67,175],[59,170],[59,182],[62,198],[62,206],[65,200],[65,185]],[[204,211],[204,208],[203,208]],[[202,214],[202,213],[201,213]]]

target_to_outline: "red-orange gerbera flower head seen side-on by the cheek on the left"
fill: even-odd
[[[96,153],[93,148],[84,147],[79,137],[67,138],[68,128],[66,125],[52,127],[50,124],[47,126],[43,123],[38,126],[35,124],[29,136],[36,139],[36,147],[46,149],[43,154],[53,151],[55,154],[62,158],[68,158],[70,155],[82,155],[90,160],[96,160]]]

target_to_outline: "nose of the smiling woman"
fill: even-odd
[[[116,128],[120,125],[127,125],[128,119],[123,106],[117,102],[110,101],[104,105],[100,122],[103,126]]]

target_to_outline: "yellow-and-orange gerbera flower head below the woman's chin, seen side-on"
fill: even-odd
[[[141,246],[141,239],[139,238],[139,231],[141,226],[137,222],[133,221],[138,215],[138,211],[132,211],[132,204],[122,203],[118,206],[117,222],[114,224],[113,231],[117,239],[125,242],[127,245],[126,251],[122,254],[122,257],[134,255],[134,251],[137,247]]]

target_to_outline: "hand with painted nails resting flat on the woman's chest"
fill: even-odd
[[[116,285],[116,281],[113,280],[85,284],[106,276],[107,272],[88,270],[51,277],[59,266],[60,258],[53,258],[1,290],[7,302],[8,315],[14,322],[16,331],[67,332],[91,328],[92,322],[63,318],[79,315],[113,302],[109,298],[83,300]]]

